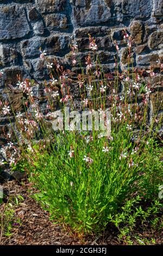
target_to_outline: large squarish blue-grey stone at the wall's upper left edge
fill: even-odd
[[[0,40],[22,38],[29,33],[29,25],[23,7],[0,7]]]

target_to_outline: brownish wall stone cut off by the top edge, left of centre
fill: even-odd
[[[51,13],[65,9],[66,0],[36,0],[36,7],[40,13]]]

